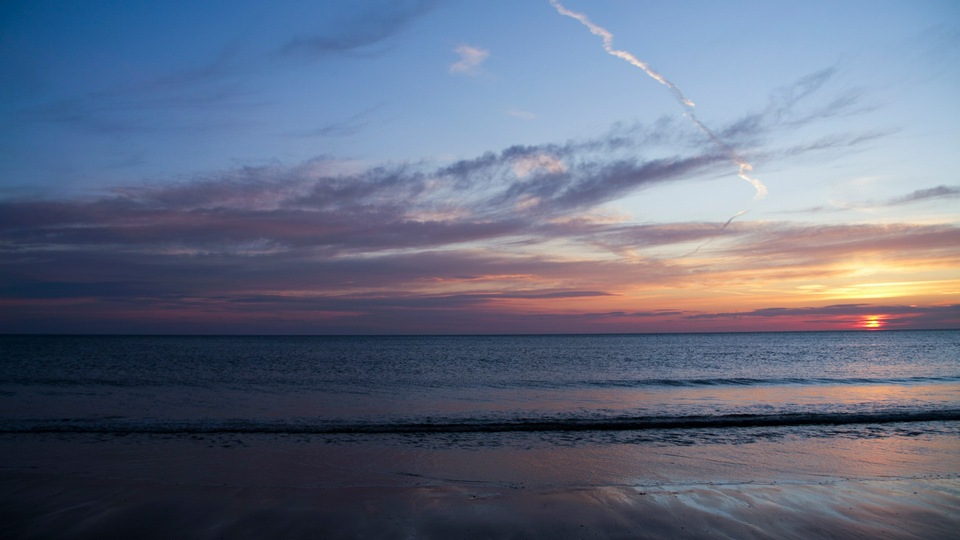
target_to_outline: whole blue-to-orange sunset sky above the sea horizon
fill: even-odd
[[[0,4],[0,332],[960,328],[953,0]]]

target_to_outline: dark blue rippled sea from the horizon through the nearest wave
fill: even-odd
[[[960,331],[0,336],[5,433],[690,444],[957,420]]]

